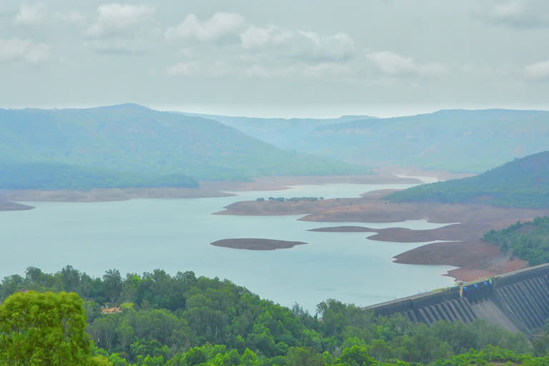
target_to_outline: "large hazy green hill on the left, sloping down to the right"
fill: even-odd
[[[136,104],[0,109],[0,161],[4,172],[19,172],[4,174],[0,180],[4,187],[25,187],[24,181],[30,179],[41,189],[88,188],[90,184],[194,187],[194,179],[368,172],[282,151],[211,119]],[[44,182],[46,176],[50,182]]]

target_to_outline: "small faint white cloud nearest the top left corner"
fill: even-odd
[[[49,11],[45,4],[21,4],[14,23],[24,26],[36,26],[41,24],[56,25],[63,23],[82,23],[86,17],[79,11]]]

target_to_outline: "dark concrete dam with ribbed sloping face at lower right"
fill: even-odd
[[[401,313],[412,322],[483,319],[533,335],[549,317],[549,264],[365,307],[376,315]]]

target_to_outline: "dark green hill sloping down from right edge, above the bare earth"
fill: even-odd
[[[549,152],[515,159],[475,177],[422,184],[389,194],[393,202],[483,202],[503,207],[549,207]]]

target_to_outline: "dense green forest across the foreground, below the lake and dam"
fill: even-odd
[[[48,291],[76,292],[84,299],[80,304],[85,312],[75,307],[76,300],[70,294],[61,292],[52,297]],[[311,315],[297,304],[288,309],[228,280],[197,277],[193,272],[172,276],[157,269],[122,277],[119,271],[111,269],[103,277],[90,277],[70,266],[52,274],[29,267],[24,276],[4,278],[0,300],[4,301],[0,306],[0,343],[4,345],[0,365],[9,365],[3,362],[13,360],[10,350],[14,329],[18,330],[17,337],[36,337],[35,331],[29,332],[22,329],[21,322],[16,323],[16,310],[24,306],[39,309],[45,302],[48,312],[56,306],[64,312],[74,308],[75,315],[70,317],[74,327],[85,327],[93,342],[89,350],[71,353],[71,357],[92,355],[89,362],[74,361],[71,365],[549,363],[549,338],[545,333],[529,342],[522,334],[506,332],[481,320],[472,324],[437,322],[427,327],[402,316],[375,317],[337,300],[320,303],[315,315]],[[104,308],[105,304],[109,308]],[[34,327],[40,313],[30,312],[34,314]],[[53,327],[50,323],[47,326]],[[18,345],[26,341],[16,340]],[[76,340],[81,344],[80,338]],[[48,338],[47,342],[55,340]],[[74,342],[71,345],[76,347]]]

